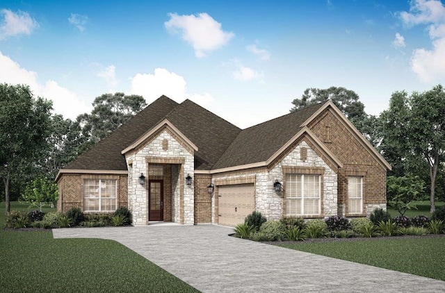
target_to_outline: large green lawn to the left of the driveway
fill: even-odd
[[[4,231],[4,207],[0,203],[1,292],[198,292],[115,241]],[[27,207],[13,203],[12,210]]]

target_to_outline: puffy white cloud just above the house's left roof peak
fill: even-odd
[[[213,103],[213,97],[208,92],[204,94],[188,94],[184,77],[169,72],[164,68],[154,69],[154,74],[136,74],[131,78],[131,94],[140,94],[147,103],[165,95],[177,102],[191,99],[201,106]]]

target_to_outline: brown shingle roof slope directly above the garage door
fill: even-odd
[[[236,137],[213,169],[266,162],[300,131],[300,125],[325,103],[246,128]]]

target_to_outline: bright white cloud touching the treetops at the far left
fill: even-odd
[[[8,56],[4,56],[1,52],[0,83],[29,85],[35,96],[52,100],[54,112],[63,115],[65,118],[75,119],[83,112],[90,112],[92,108],[88,107],[74,92],[61,87],[56,81],[39,83],[36,72],[20,67],[17,62]]]

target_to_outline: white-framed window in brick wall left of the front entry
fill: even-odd
[[[83,210],[113,212],[116,210],[117,194],[115,180],[85,179],[83,181]]]

